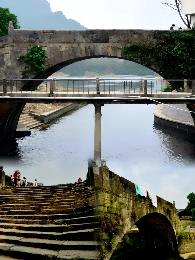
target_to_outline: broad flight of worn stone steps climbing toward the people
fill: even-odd
[[[98,205],[87,181],[1,191],[0,260],[98,259]]]

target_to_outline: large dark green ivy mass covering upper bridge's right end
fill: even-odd
[[[195,78],[195,32],[165,31],[158,41],[138,41],[123,47],[122,56],[155,66],[166,79]]]

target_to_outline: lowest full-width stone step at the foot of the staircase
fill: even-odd
[[[7,251],[5,251],[7,250]],[[0,252],[1,254],[8,253],[10,257],[19,258],[19,259],[40,259],[40,260],[48,260],[48,259],[88,259],[88,260],[96,260],[98,259],[98,252],[94,251],[76,251],[76,250],[50,250],[50,249],[41,249],[41,248],[31,248],[31,247],[23,247],[17,246],[14,244],[0,244]],[[3,259],[3,258],[2,258]],[[9,258],[8,258],[9,259]],[[13,259],[13,258],[12,258]]]

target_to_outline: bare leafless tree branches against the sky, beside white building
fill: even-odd
[[[188,15],[185,15],[184,17],[182,16],[181,10],[182,10],[182,0],[163,0],[162,2],[160,2],[163,5],[169,6],[172,9],[176,10],[179,13],[179,16],[181,17],[181,20],[183,21],[183,23],[187,26],[190,27],[190,23],[191,23],[191,16],[190,16],[190,20]]]

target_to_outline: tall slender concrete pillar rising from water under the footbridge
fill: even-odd
[[[94,161],[101,162],[101,104],[95,106],[95,129],[94,129]]]

